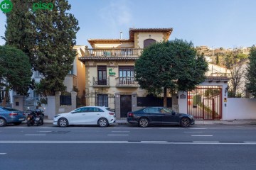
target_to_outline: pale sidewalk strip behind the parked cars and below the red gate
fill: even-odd
[[[52,119],[43,120],[44,123],[53,123]],[[118,125],[129,125],[126,119],[117,119]],[[196,120],[195,125],[256,125],[256,120]]]

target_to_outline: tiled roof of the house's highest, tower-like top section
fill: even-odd
[[[173,28],[130,28],[129,29],[129,40],[134,41],[134,33],[167,33],[167,40],[169,39],[169,36],[171,35],[171,32],[173,31]]]

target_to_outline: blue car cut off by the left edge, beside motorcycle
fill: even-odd
[[[26,118],[25,113],[18,111],[14,108],[0,107],[0,127],[5,126],[7,123],[14,123],[20,125]]]

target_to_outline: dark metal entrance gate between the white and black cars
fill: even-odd
[[[120,112],[121,112],[121,118],[126,118],[127,113],[129,111],[132,111],[132,95],[121,95],[121,106],[120,106]]]

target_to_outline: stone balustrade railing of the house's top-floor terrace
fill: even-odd
[[[141,48],[87,48],[85,57],[139,57]]]

